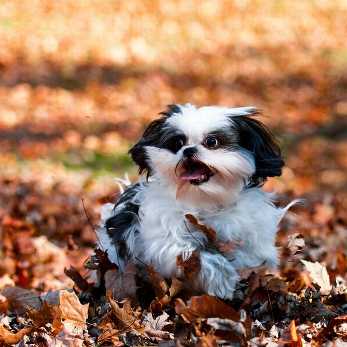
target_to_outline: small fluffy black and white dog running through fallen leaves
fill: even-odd
[[[277,208],[261,189],[267,177],[281,175],[284,161],[258,114],[254,107],[173,104],[148,126],[129,151],[146,178],[102,212],[100,243],[120,270],[131,259],[165,278],[183,278],[177,257],[198,251],[201,269],[187,279],[190,288],[231,299],[239,270],[264,261],[277,266],[275,235],[292,203]],[[242,245],[211,250],[187,214],[212,227],[219,243]]]

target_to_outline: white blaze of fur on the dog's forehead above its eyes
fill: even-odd
[[[239,107],[234,109],[205,106],[197,109],[186,104],[180,106],[181,113],[173,114],[166,121],[175,129],[182,131],[188,144],[199,144],[209,133],[230,125],[227,116],[251,115],[255,107]]]

